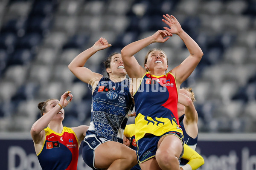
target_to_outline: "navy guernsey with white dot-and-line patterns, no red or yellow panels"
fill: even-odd
[[[102,77],[93,91],[92,113],[86,137],[103,136],[108,140],[123,143],[123,132],[128,113],[134,104],[129,92],[130,82],[112,82]]]

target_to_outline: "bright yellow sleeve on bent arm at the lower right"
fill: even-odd
[[[204,164],[204,158],[188,145],[184,144],[183,159],[189,162],[183,166],[183,170],[196,170]]]

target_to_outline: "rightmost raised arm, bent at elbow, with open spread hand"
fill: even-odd
[[[180,23],[173,15],[166,14],[163,15],[163,17],[165,20],[162,19],[162,21],[170,27],[164,27],[164,29],[171,34],[177,34],[181,40],[183,40],[190,53],[190,55],[180,65],[170,71],[175,75],[177,84],[181,85],[181,83],[184,82],[195,70],[204,54],[199,45],[189,37],[185,31],[183,31]]]

